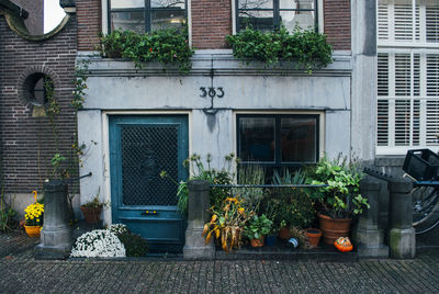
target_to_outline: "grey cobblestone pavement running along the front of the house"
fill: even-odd
[[[27,238],[27,242],[33,245],[35,239]],[[3,249],[3,244],[0,246]],[[414,260],[359,262],[177,259],[38,261],[33,259],[32,249],[23,248],[24,251],[13,250],[1,257],[0,293],[439,292],[438,248],[421,250]]]

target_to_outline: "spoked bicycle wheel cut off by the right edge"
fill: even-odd
[[[439,212],[439,190],[421,188],[412,193],[413,226],[419,226]]]

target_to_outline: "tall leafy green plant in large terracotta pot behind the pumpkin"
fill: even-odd
[[[360,194],[359,165],[340,157],[330,161],[322,158],[309,174],[311,184],[326,184],[312,195],[319,203],[318,214],[325,244],[333,245],[339,237],[348,237],[352,217],[369,208]]]

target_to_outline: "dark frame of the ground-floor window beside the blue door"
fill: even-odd
[[[268,161],[244,161],[241,160],[239,165],[259,165],[261,167],[267,167],[267,168],[299,168],[304,165],[315,165],[318,162],[320,158],[320,148],[322,148],[322,113],[254,113],[254,112],[237,112],[235,113],[235,148],[236,148],[236,155],[238,158],[240,158],[240,138],[239,138],[239,117],[270,117],[274,118],[274,162],[268,162]],[[315,161],[291,161],[291,162],[282,162],[282,151],[281,151],[281,118],[315,118]]]

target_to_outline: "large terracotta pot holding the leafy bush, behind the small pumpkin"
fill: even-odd
[[[325,244],[334,245],[339,237],[349,237],[352,218],[333,218],[324,214],[318,214],[318,219]]]

